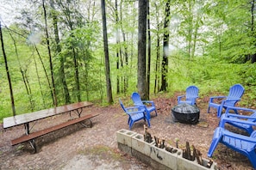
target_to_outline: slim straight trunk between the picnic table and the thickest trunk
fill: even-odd
[[[110,69],[109,69],[109,45],[108,45],[108,34],[107,34],[107,21],[105,11],[105,0],[101,1],[102,6],[102,17],[103,17],[103,42],[104,42],[104,53],[105,53],[105,74],[107,84],[107,97],[109,104],[113,103],[111,80],[110,80]]]

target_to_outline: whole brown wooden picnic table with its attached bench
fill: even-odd
[[[57,131],[59,129],[65,128],[72,124],[77,124],[77,123],[83,124],[82,121],[84,120],[89,121],[89,125],[83,124],[84,127],[91,127],[92,126],[91,118],[98,116],[98,114],[87,114],[81,117],[83,108],[91,105],[92,105],[91,102],[82,101],[82,102],[73,103],[65,106],[57,106],[57,107],[53,107],[53,108],[49,108],[41,111],[29,112],[29,113],[20,114],[20,115],[8,117],[8,118],[3,118],[3,128],[7,129],[16,125],[24,124],[25,135],[22,135],[22,137],[18,137],[14,140],[11,140],[11,145],[13,146],[13,145],[28,141],[32,146],[32,148],[34,149],[34,153],[36,153],[36,145],[34,141],[36,137],[41,137],[43,135],[46,135],[47,133]],[[47,129],[44,129],[41,131],[34,131],[30,133],[31,129],[29,127],[29,123],[42,118],[49,118],[55,115],[59,115],[65,112],[69,112],[70,117],[71,117],[71,113],[75,112],[78,118],[73,118],[62,124],[57,124]]]

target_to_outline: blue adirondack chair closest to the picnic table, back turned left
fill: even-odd
[[[140,119],[144,119],[144,121],[146,121],[147,119],[147,126],[150,127],[150,119],[147,118],[147,116],[145,115],[146,111],[144,108],[140,106],[125,107],[123,106],[122,100],[120,99],[119,99],[119,103],[122,107],[122,110],[128,114],[129,130],[132,129],[134,122],[137,122]]]

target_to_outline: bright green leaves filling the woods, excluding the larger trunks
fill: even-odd
[[[157,46],[160,49],[160,64],[163,56],[162,42],[165,30],[161,19],[165,17],[165,2],[150,3],[149,19],[152,31],[150,94],[153,94],[155,76],[162,76],[161,65],[157,72],[155,72],[155,67]],[[53,3],[55,9],[51,9],[50,5],[47,8],[47,17],[49,17],[47,23],[59,105],[65,104],[64,88],[61,82],[63,75],[60,73],[61,61],[64,62],[71,102],[76,102],[79,94],[81,100],[91,100],[103,106],[107,105],[99,5],[83,2],[86,8],[87,5],[90,8],[80,10],[78,1]],[[39,6],[41,3],[36,5]],[[137,91],[138,81],[137,2],[120,2],[117,5],[119,21],[116,21],[115,4],[109,1],[107,7],[107,10],[110,9],[107,20],[112,92],[118,96],[129,96],[132,92]],[[168,58],[168,97],[172,97],[172,94],[177,91],[184,91],[192,84],[200,89],[200,95],[209,95],[227,94],[231,85],[241,83],[246,88],[245,98],[247,99],[242,100],[241,103],[253,106],[254,100],[256,100],[256,68],[255,64],[246,63],[246,57],[256,53],[255,33],[253,33],[255,28],[251,27],[251,5],[245,0],[171,2],[169,46],[174,49],[170,50]],[[35,10],[34,14],[37,15],[29,17],[24,15],[24,20],[29,21],[28,24],[11,26],[12,37],[7,29],[3,29],[17,114],[53,107],[51,88],[47,82],[47,76],[50,76],[47,39],[44,29],[41,28],[44,25],[44,20],[41,20],[43,18],[39,11],[41,8]],[[51,12],[54,12],[58,19],[61,52],[56,52],[53,39],[53,18],[51,18],[53,13]],[[27,23],[26,21],[21,20],[20,22]],[[41,33],[37,33],[35,30],[41,30]],[[117,31],[119,35],[117,35]],[[159,45],[156,41],[158,36]],[[120,40],[119,44],[116,43],[117,38]],[[41,59],[35,51],[34,45],[36,45]],[[119,60],[117,60],[116,52],[120,52]],[[126,57],[128,58],[127,64]],[[47,76],[44,73],[41,60],[46,67]],[[78,68],[74,66],[75,61]],[[120,62],[119,69],[116,67],[117,61]],[[76,69],[79,73],[79,90],[76,87]],[[26,76],[31,92],[27,91],[25,87],[21,70]],[[12,114],[9,84],[6,77],[3,55],[0,53],[0,118]],[[116,94],[117,77],[120,81],[120,94]],[[126,93],[124,93],[124,79],[128,83]],[[50,81],[50,83],[52,82]],[[161,82],[159,81],[159,83]]]

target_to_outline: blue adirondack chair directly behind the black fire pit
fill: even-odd
[[[178,96],[178,104],[187,103],[189,105],[197,106],[196,100],[198,98],[198,92],[199,89],[197,88],[197,86],[189,86],[188,88],[186,88],[185,95]],[[183,98],[185,98],[185,100],[182,100]]]

